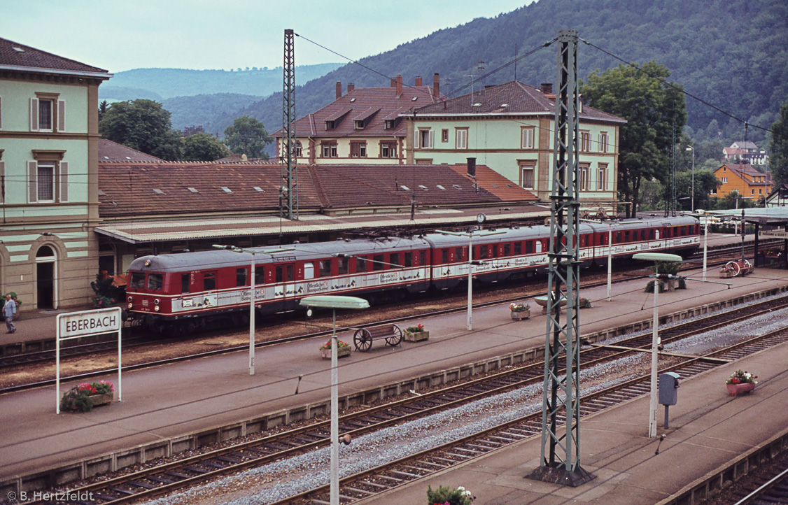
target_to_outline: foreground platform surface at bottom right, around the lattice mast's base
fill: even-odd
[[[524,478],[540,464],[541,441],[535,436],[356,503],[426,503],[427,486],[444,485],[470,490],[474,505],[654,505],[788,427],[786,363],[788,343],[681,381],[667,430],[660,406],[657,439],[648,437],[648,395],[583,418],[581,466],[597,478],[578,488]],[[734,398],[725,380],[739,368],[756,373],[758,384]]]

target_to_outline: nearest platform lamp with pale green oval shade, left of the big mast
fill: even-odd
[[[366,309],[370,303],[355,296],[314,295],[301,299],[301,306],[325,307],[333,312],[333,331],[331,333],[331,505],[340,505],[340,414],[339,381],[336,362],[336,309]],[[347,443],[347,442],[346,442]]]

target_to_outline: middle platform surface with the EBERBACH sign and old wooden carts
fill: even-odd
[[[691,278],[700,276],[693,273]],[[660,294],[660,314],[785,289],[788,271],[756,269],[746,277],[724,280],[716,271],[709,271],[708,280],[727,284],[688,281],[686,290]],[[610,302],[604,286],[582,290],[581,295],[593,303],[592,308],[581,311],[582,335],[650,322],[652,295],[643,292],[645,282],[614,284]],[[472,331],[466,329],[464,312],[412,321],[410,325],[425,325],[430,339],[403,342],[394,348],[375,341],[369,352],[354,351],[340,361],[340,395],[527,348],[543,348],[545,316],[531,300],[524,301],[532,306],[529,320],[511,321],[507,305],[490,306],[474,310]],[[351,338],[351,332],[340,333],[340,340],[351,342]],[[93,470],[114,470],[134,458],[139,461],[140,455],[142,460],[168,455],[182,447],[184,440],[194,440],[195,434],[211,433],[219,439],[222,433],[241,435],[241,421],[325,402],[329,398],[330,362],[319,357],[318,347],[323,342],[303,340],[258,349],[254,376],[247,373],[246,352],[130,371],[123,374],[122,401],[88,413],[55,414],[58,395],[54,386],[0,395],[0,425],[6,427],[0,437],[0,490],[35,483],[30,477],[50,476],[53,469],[61,479],[79,477],[91,462],[100,462],[91,467]],[[117,374],[95,380],[99,379],[116,383],[117,400]],[[73,385],[76,383],[69,381],[61,384],[61,395]],[[645,419],[646,414],[643,411],[639,417]],[[423,494],[412,503],[422,500]]]

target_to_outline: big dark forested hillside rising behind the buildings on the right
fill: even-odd
[[[577,29],[581,39],[626,61],[655,60],[665,65],[671,80],[686,91],[751,124],[770,126],[788,97],[785,0],[538,0],[511,13],[434,32],[361,62],[387,76],[402,74],[406,84],[413,84],[415,76],[431,84],[433,73],[439,72],[444,94],[464,94],[470,87],[459,88],[469,83],[469,74],[478,76],[505,65],[514,59],[515,49],[518,55],[526,54],[554,39],[561,28]],[[479,61],[485,62],[483,72]],[[578,63],[585,79],[594,69],[615,67],[620,61],[580,44]],[[487,77],[484,84],[514,78],[511,65]],[[556,46],[518,61],[516,78],[537,87],[555,82]],[[359,65],[345,65],[296,90],[297,116],[331,102],[336,81],[344,88],[347,83],[389,84],[387,78]],[[280,90],[239,115],[255,116],[274,132],[281,127],[281,106]],[[689,126],[697,138],[719,132],[727,139],[743,138],[738,121],[692,98],[687,98],[687,106]],[[749,139],[759,141],[764,135],[749,128]]]

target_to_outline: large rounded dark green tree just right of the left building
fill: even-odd
[[[169,116],[169,110],[153,100],[115,102],[104,113],[99,133],[113,142],[174,161],[180,159],[180,135],[173,130]]]

